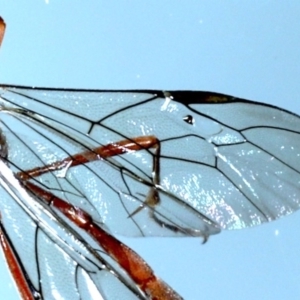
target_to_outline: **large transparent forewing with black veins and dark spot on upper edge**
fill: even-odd
[[[15,132],[20,140],[11,144],[22,148],[26,141],[32,153],[18,158],[23,170],[124,139],[160,140],[159,185],[153,183],[151,149],[39,178],[111,232],[208,236],[299,207],[300,126],[289,112],[204,92],[4,87],[2,98],[9,101],[6,107],[14,103],[26,110],[9,113],[25,131],[4,126],[6,135]],[[151,187],[160,202],[135,213]]]

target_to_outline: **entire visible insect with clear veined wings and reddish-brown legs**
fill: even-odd
[[[209,92],[0,86],[2,248],[23,298],[180,299],[113,234],[299,207],[299,116]]]

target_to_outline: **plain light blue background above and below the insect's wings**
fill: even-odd
[[[1,83],[209,90],[300,114],[297,1],[0,4]],[[204,246],[192,238],[123,240],[187,300],[300,299],[299,228],[295,213]],[[6,276],[1,295],[13,292]]]

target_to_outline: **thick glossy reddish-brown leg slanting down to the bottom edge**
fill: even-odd
[[[99,227],[84,210],[67,203],[31,182],[25,181],[23,185],[39,199],[54,206],[93,237],[150,299],[182,299],[165,282],[155,276],[151,267],[137,253]]]

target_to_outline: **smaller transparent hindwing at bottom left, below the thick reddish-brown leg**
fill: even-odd
[[[5,231],[36,299],[143,298],[103,249],[83,232],[76,234],[78,229],[73,234],[62,218],[30,197],[8,167],[0,164]]]

